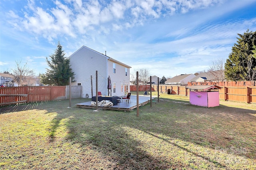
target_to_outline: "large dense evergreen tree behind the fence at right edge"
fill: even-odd
[[[244,34],[238,34],[237,43],[232,47],[232,52],[225,63],[225,77],[232,81],[255,80],[253,72],[256,69],[254,45],[256,45],[256,31],[247,30]]]

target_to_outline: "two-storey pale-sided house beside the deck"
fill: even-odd
[[[96,70],[98,92],[103,96],[123,96],[130,92],[130,66],[86,46],[70,55],[69,59],[75,74],[72,85],[82,86],[82,98],[96,95]],[[111,90],[108,90],[108,77]]]

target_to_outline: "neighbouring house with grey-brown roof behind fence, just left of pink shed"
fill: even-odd
[[[186,86],[188,84],[188,81],[190,81],[194,77],[196,77],[194,74],[180,74],[179,76],[175,76],[166,80],[165,84]]]

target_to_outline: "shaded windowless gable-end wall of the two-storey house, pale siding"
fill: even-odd
[[[107,57],[83,46],[70,56],[70,67],[75,73],[74,80],[76,80],[72,85],[77,83],[82,85],[82,98],[85,98],[86,94],[92,98],[91,76],[93,96],[96,95],[96,70],[98,70],[98,91],[102,95],[107,94]]]

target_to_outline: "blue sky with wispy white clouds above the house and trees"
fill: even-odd
[[[208,70],[237,33],[256,31],[255,0],[0,0],[0,72],[15,61],[45,73],[58,41],[83,45],[151,75]]]

